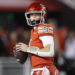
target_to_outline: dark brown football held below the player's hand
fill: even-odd
[[[22,51],[17,51],[17,52],[14,52],[14,56],[20,64],[24,64],[25,61],[27,60],[28,53],[22,52]]]

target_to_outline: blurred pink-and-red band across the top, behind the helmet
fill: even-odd
[[[0,0],[0,10],[24,11],[33,2],[44,4],[48,11],[60,11],[60,7],[52,0]]]

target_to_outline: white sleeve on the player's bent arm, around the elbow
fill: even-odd
[[[39,39],[42,41],[44,47],[47,44],[50,44],[50,51],[49,52],[40,52],[40,51],[38,51],[38,55],[42,56],[42,57],[52,57],[52,56],[54,56],[53,36],[39,36]]]

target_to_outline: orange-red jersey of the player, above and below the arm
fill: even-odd
[[[40,24],[36,27],[36,29],[31,30],[31,37],[30,37],[30,46],[35,46],[38,48],[43,48],[43,43],[39,39],[39,36],[53,36],[54,37],[54,29],[51,24]],[[52,65],[54,62],[54,57],[40,57],[32,54],[31,56],[31,66],[32,68],[36,68],[38,65],[41,64],[49,64]]]

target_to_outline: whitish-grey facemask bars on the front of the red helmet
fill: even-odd
[[[31,19],[30,19],[31,14],[39,14],[40,19],[31,21]],[[42,12],[42,11],[35,11],[35,12],[27,12],[27,13],[25,13],[27,24],[29,26],[36,26],[36,25],[44,23],[44,14],[45,14],[45,12]]]

